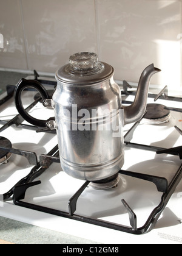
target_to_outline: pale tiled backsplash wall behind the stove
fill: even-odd
[[[55,73],[69,56],[92,51],[115,80],[181,89],[181,0],[0,0],[0,68]]]

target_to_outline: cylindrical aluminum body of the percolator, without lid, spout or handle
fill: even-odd
[[[113,76],[90,85],[57,80],[53,103],[63,171],[89,181],[116,174],[124,143],[121,91]]]

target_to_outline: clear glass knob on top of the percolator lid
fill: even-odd
[[[98,68],[98,55],[94,52],[78,52],[70,56],[69,63],[73,71],[86,71]]]

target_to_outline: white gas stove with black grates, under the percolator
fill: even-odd
[[[54,79],[35,79],[50,94],[56,87]],[[98,190],[62,171],[56,130],[24,121],[14,90],[7,85],[0,101],[1,216],[98,243],[182,243],[180,96],[171,96],[167,87],[159,93],[149,89],[143,118],[124,126],[119,178]],[[135,88],[123,81],[121,91],[123,104],[131,104]],[[22,99],[33,117],[54,116],[36,91],[24,91]]]

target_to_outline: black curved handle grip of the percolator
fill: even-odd
[[[22,116],[22,118],[24,118],[30,124],[33,124],[34,126],[45,127],[48,120],[41,120],[41,119],[33,118],[33,116],[30,116],[29,113],[27,113],[25,111],[25,109],[22,105],[21,93],[27,87],[33,87],[36,90],[38,90],[39,93],[41,94],[41,98],[43,100],[49,99],[49,94],[47,93],[45,88],[38,81],[27,80],[27,79],[22,78],[21,80],[19,80],[19,82],[15,88],[14,97],[15,97],[16,109],[18,110],[18,112]]]

